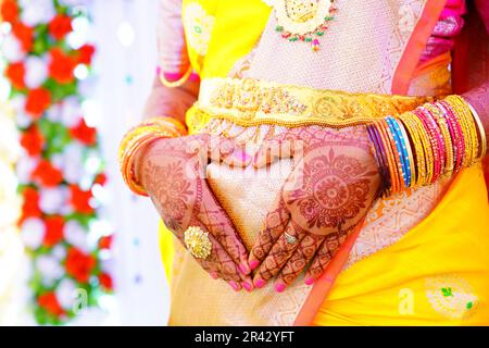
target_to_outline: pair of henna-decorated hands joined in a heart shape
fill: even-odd
[[[293,167],[267,212],[250,254],[205,181],[209,160],[256,169],[285,158]],[[364,126],[288,129],[265,140],[254,158],[225,137],[205,134],[153,142],[137,176],[165,225],[184,243],[188,226],[209,232],[206,259],[196,259],[235,290],[277,277],[283,291],[305,273],[311,285],[378,197],[380,176]],[[185,244],[184,244],[185,245]]]

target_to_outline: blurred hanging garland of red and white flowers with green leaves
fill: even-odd
[[[4,75],[24,150],[16,165],[18,224],[33,256],[34,313],[41,324],[61,324],[95,306],[100,290],[112,290],[101,252],[112,236],[98,219],[103,162],[75,77],[76,69],[89,70],[95,47],[68,45],[73,21],[84,16],[75,2],[0,0],[0,18],[9,23]]]

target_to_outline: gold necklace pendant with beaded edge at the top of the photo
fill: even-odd
[[[275,30],[290,42],[308,42],[314,51],[337,12],[334,0],[262,0],[274,8]]]

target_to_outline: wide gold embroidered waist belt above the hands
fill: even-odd
[[[198,111],[196,116],[200,111],[208,119],[228,120],[241,126],[274,124],[286,127],[346,127],[403,113],[434,99],[349,94],[253,78],[208,78],[201,82],[195,109]]]

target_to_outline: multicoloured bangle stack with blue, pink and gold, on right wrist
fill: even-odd
[[[375,121],[367,132],[384,183],[383,196],[449,177],[487,151],[482,123],[460,96]]]

